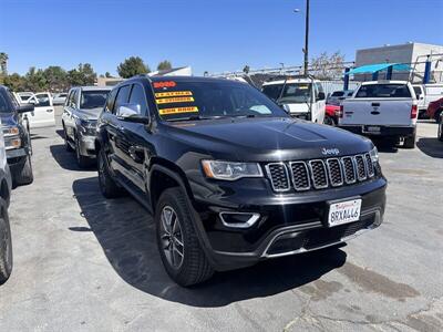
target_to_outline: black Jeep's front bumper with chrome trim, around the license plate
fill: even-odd
[[[343,242],[377,228],[383,220],[387,181],[383,177],[331,190],[285,197],[244,196],[238,206],[219,200],[195,205],[200,243],[216,270],[230,270],[260,260],[301,253]],[[360,220],[336,227],[326,224],[328,201],[359,196]],[[251,227],[227,227],[222,211],[259,214]]]

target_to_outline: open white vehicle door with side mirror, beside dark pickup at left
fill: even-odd
[[[55,110],[49,92],[33,94],[28,100],[28,103],[34,104],[34,110],[24,114],[29,123],[29,128],[55,126]]]

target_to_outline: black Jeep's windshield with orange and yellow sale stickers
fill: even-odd
[[[164,81],[153,83],[163,120],[235,116],[288,116],[266,95],[238,82]]]

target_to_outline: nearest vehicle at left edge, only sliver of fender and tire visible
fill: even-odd
[[[0,105],[1,100],[0,95]],[[7,162],[3,133],[0,131],[0,284],[8,280],[12,271],[12,240],[8,217],[11,187],[12,179]]]

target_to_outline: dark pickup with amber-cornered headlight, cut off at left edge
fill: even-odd
[[[18,104],[12,93],[0,85],[0,118],[13,186],[33,181],[31,138],[23,124],[23,114],[32,112],[33,107],[32,104]]]

